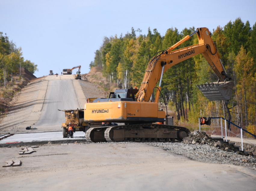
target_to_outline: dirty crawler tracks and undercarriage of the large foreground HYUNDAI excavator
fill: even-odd
[[[90,128],[87,142],[170,142],[182,140],[190,133],[185,127],[164,124],[134,124]]]

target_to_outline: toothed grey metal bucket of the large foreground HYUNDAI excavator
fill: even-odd
[[[234,83],[229,82],[211,82],[196,85],[205,97],[210,101],[229,100],[232,95]]]

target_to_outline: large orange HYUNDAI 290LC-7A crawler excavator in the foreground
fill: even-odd
[[[194,34],[199,43],[182,49],[174,50]],[[161,141],[182,140],[190,131],[185,127],[173,126],[168,122],[165,111],[158,109],[163,73],[173,65],[202,53],[212,70],[219,78],[218,82],[197,85],[209,100],[229,100],[234,83],[227,75],[217,51],[216,44],[211,39],[208,28],[197,28],[195,32],[156,55],[149,62],[140,89],[119,89],[110,92],[109,98],[97,98],[93,103],[86,103],[84,121],[124,123],[109,127],[93,127],[85,129],[88,142],[116,141]],[[159,81],[160,80],[160,81]],[[156,83],[159,81],[159,86]],[[153,89],[157,88],[155,100],[150,100]],[[160,122],[160,124],[156,124]]]

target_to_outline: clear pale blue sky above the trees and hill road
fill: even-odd
[[[88,73],[104,36],[119,37],[131,27],[142,34],[156,28],[161,35],[171,27],[212,31],[238,17],[252,27],[255,7],[255,0],[0,0],[0,31],[38,65],[37,77],[78,65]]]

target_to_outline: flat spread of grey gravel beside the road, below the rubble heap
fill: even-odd
[[[254,156],[240,155],[239,152],[235,151],[228,152],[210,145],[188,145],[181,142],[151,142],[148,144],[162,147],[166,151],[184,155],[200,162],[245,166],[256,170],[256,158]]]

